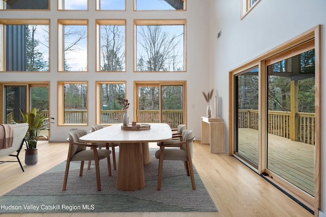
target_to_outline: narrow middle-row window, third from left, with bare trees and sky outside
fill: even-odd
[[[126,71],[126,20],[96,20],[96,71]]]

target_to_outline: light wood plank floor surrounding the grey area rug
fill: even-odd
[[[21,171],[16,162],[0,165],[0,195],[60,164],[67,157],[67,147],[67,143],[39,141],[38,164],[25,166],[23,163],[25,172]],[[5,159],[11,158],[1,158]],[[24,150],[20,154],[20,159],[24,161]],[[218,212],[65,213],[60,216],[313,216],[236,158],[227,154],[209,153],[209,145],[196,141],[193,161]],[[58,187],[61,188],[62,183],[58,183]],[[0,214],[1,217],[49,215],[58,216],[58,213]]]

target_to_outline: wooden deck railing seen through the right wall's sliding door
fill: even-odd
[[[268,111],[268,133],[290,138],[290,112]],[[297,140],[315,144],[315,113],[297,113]],[[258,130],[258,110],[238,110],[238,127]]]

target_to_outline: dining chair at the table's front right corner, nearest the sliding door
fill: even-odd
[[[185,162],[187,175],[191,177],[193,190],[196,190],[194,169],[192,163],[193,156],[193,145],[195,141],[193,136],[193,130],[185,129],[182,131],[182,141],[172,144],[165,144],[161,142],[159,150],[155,152],[156,159],[158,161],[158,181],[157,181],[157,191],[161,189],[162,174],[163,174],[163,161],[164,160],[182,160]],[[166,147],[180,145],[183,149],[165,149]]]

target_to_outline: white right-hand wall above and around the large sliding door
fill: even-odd
[[[218,90],[220,100],[219,114],[228,123],[228,72],[243,63],[253,60],[264,52],[321,24],[321,95],[322,111],[325,111],[326,64],[323,64],[326,51],[325,24],[326,1],[324,0],[261,0],[255,8],[240,20],[240,0],[214,1],[210,3],[210,80]],[[222,36],[216,35],[222,29]],[[321,171],[326,169],[325,135],[326,116],[321,115]],[[227,130],[228,133],[228,130]],[[326,180],[321,173],[321,212],[326,212]]]

